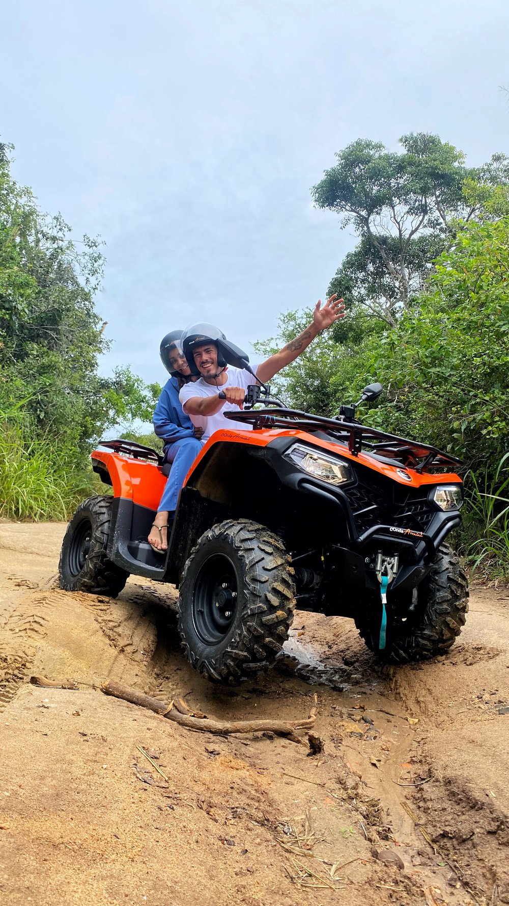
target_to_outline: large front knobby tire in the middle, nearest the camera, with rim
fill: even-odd
[[[214,525],[193,548],[180,583],[187,658],[215,682],[252,677],[276,660],[294,607],[293,573],[278,536],[247,519]]]

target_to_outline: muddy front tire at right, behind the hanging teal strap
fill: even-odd
[[[387,608],[386,645],[379,650],[382,603],[376,616],[363,613],[355,619],[368,648],[382,660],[407,663],[445,654],[465,625],[468,611],[467,573],[457,554],[440,545],[428,575],[418,586],[417,605],[413,611],[391,615]],[[390,594],[390,593],[389,593]],[[391,619],[392,616],[392,619]],[[401,617],[406,616],[406,620]]]

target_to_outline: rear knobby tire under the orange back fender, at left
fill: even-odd
[[[61,545],[60,585],[66,592],[116,598],[129,573],[111,563],[107,546],[113,497],[97,496],[78,506]]]

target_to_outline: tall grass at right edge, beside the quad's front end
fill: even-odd
[[[468,545],[468,560],[486,576],[509,580],[509,452],[490,480],[469,473],[468,521],[478,537]]]

